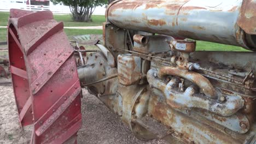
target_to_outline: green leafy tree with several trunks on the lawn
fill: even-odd
[[[69,5],[72,19],[78,22],[92,21],[91,15],[95,8],[108,3],[107,0],[51,0],[51,2]]]

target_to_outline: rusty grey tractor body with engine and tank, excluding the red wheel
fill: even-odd
[[[254,143],[255,53],[195,51],[195,40],[254,51],[255,7],[241,0],[115,1],[106,10],[104,44],[96,44],[101,52],[78,68],[82,87],[141,140]]]

